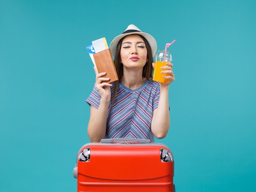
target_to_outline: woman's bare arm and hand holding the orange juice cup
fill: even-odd
[[[159,103],[157,109],[153,111],[153,117],[151,122],[151,130],[153,134],[157,138],[164,138],[170,127],[170,114],[169,114],[169,85],[175,80],[173,74],[173,64],[168,63],[164,69],[168,69],[164,71],[168,76],[164,76],[164,78],[169,79],[167,83],[160,84],[160,96]],[[153,63],[153,67],[155,64]]]

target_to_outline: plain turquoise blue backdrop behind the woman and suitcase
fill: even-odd
[[[129,24],[173,55],[171,127],[179,192],[252,191],[256,2],[0,0],[0,191],[76,191],[95,80],[86,46]]]

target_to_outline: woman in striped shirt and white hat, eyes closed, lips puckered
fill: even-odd
[[[88,136],[91,142],[102,138],[140,138],[154,142],[164,138],[170,126],[168,89],[175,80],[173,64],[162,69],[167,83],[152,80],[153,55],[157,43],[153,36],[135,25],[110,44],[119,81],[104,83],[106,73],[96,73],[94,89],[86,102],[90,105]],[[95,70],[95,69],[94,69]]]

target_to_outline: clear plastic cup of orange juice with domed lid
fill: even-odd
[[[162,71],[166,71],[168,69],[161,69],[161,67],[166,66],[166,63],[171,63],[172,61],[172,56],[169,51],[166,51],[165,56],[164,54],[165,54],[164,49],[157,51],[157,53],[155,54],[155,67],[153,72],[153,80],[158,81],[160,83],[164,83],[165,81],[168,80],[163,78],[163,76],[166,76],[168,74],[162,73]]]

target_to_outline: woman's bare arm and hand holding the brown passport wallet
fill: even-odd
[[[95,69],[94,69],[95,70]],[[100,142],[102,138],[105,137],[106,134],[106,122],[107,122],[107,114],[108,114],[108,105],[110,102],[110,87],[112,86],[109,83],[104,83],[104,80],[109,80],[109,78],[103,78],[102,76],[106,75],[106,73],[96,73],[96,82],[95,87],[99,91],[101,95],[101,100],[99,104],[99,108],[96,109],[91,105],[90,107],[90,119],[88,123],[88,136],[91,142]]]

